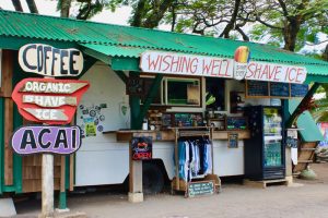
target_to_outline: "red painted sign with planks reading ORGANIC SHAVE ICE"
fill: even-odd
[[[25,78],[15,86],[12,99],[26,120],[68,124],[89,86],[86,81]]]

